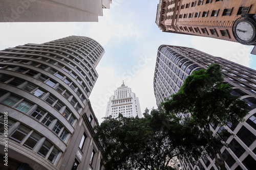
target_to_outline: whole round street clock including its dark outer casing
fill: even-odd
[[[256,22],[252,17],[240,17],[233,23],[233,36],[245,45],[256,44]]]

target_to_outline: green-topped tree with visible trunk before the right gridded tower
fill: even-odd
[[[226,145],[224,137],[229,137],[231,133],[225,130],[214,134],[210,124],[223,126],[243,122],[244,116],[248,114],[248,105],[239,96],[230,93],[231,87],[223,83],[221,69],[219,64],[212,64],[206,70],[194,71],[179,92],[172,95],[163,106],[168,114],[189,114],[186,124],[199,128],[207,141],[205,151],[214,155],[221,169],[226,169],[220,149]]]

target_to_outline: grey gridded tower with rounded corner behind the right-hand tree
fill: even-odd
[[[227,129],[235,136],[226,142],[229,148],[223,147],[221,152],[225,157],[227,169],[254,169],[256,164],[256,71],[229,60],[214,57],[194,48],[161,45],[158,48],[154,76],[154,92],[157,105],[177,93],[187,76],[194,70],[207,69],[209,65],[223,65],[224,81],[231,85],[232,94],[241,96],[248,102],[249,114],[245,122],[236,125],[218,127],[211,125],[212,132]],[[184,118],[184,115],[180,114]],[[218,169],[214,158],[204,156],[197,165],[180,160],[182,169]]]

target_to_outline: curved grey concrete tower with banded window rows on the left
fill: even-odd
[[[8,167],[99,169],[88,99],[103,54],[98,42],[80,36],[0,51],[0,155],[8,154]]]

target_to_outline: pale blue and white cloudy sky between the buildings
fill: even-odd
[[[99,123],[106,103],[124,81],[139,97],[141,111],[156,108],[153,89],[158,47],[162,44],[193,47],[256,69],[253,46],[189,35],[163,33],[156,25],[159,0],[113,0],[99,22],[16,22],[0,23],[0,50],[25,43],[44,43],[80,35],[98,41],[105,54],[96,70],[99,78],[90,100]]]

